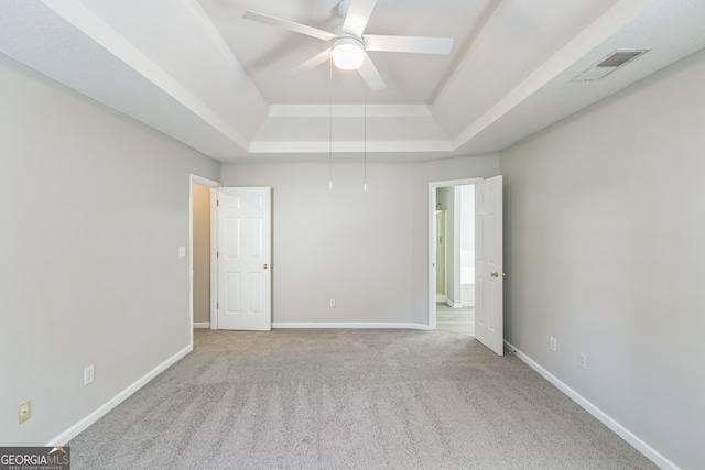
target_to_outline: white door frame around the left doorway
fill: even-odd
[[[203,176],[188,175],[188,324],[191,335],[191,346],[194,346],[194,183],[210,188],[210,328],[214,328],[215,306],[218,298],[217,265],[216,265],[216,242],[217,242],[217,220],[216,220],[216,190],[223,184]],[[214,275],[216,277],[214,277]]]

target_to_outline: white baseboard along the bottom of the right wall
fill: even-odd
[[[514,348],[510,342],[505,341],[505,345],[507,345],[507,348],[509,348],[510,351],[517,354],[517,357],[521,359],[523,362],[525,362],[531,369],[539,372],[539,374],[541,374],[545,380],[547,380],[553,385],[555,385],[556,389],[565,393],[571,400],[573,400],[575,403],[581,405],[587,413],[595,416],[599,422],[601,422],[605,426],[610,428],[615,434],[617,434],[619,437],[621,437],[627,442],[629,442],[631,447],[633,447],[634,449],[643,453],[644,457],[647,457],[653,463],[659,466],[659,468],[669,469],[669,470],[680,470],[680,468],[675,463],[673,463],[671,460],[665,458],[662,453],[660,453],[653,447],[649,446],[647,442],[641,440],[639,436],[637,436],[636,434],[633,434],[632,431],[630,431],[629,429],[627,429],[626,427],[617,423],[614,418],[611,418],[600,408],[595,406],[583,395],[581,395],[579,393],[571,389],[568,385],[562,382],[558,378],[556,378],[551,372],[542,368],[533,359],[531,359],[530,357],[521,352],[519,349]]]

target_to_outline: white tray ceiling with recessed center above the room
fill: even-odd
[[[0,52],[224,162],[412,161],[505,149],[705,46],[702,0],[378,0],[366,33],[454,45],[370,52],[387,83],[371,92],[327,63],[289,78],[329,43],[247,9],[343,22],[338,0],[0,0]],[[649,52],[572,80],[626,48]]]

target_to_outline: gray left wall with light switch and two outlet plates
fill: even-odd
[[[219,164],[1,54],[0,143],[0,444],[44,445],[188,347],[188,175]]]

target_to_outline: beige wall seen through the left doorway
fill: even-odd
[[[194,324],[210,323],[210,188],[193,184]]]

